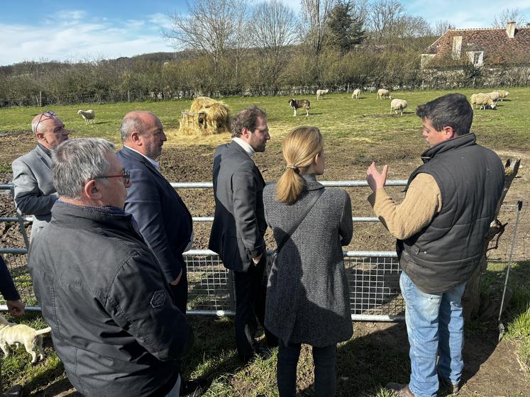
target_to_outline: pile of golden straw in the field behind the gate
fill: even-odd
[[[230,113],[224,102],[207,96],[196,98],[189,111],[183,111],[179,133],[211,135],[230,132]]]

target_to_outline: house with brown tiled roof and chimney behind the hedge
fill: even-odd
[[[507,62],[530,63],[530,26],[506,28],[448,29],[421,54],[421,66],[437,60],[469,60],[473,65],[504,65]]]

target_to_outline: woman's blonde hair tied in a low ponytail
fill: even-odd
[[[276,184],[277,201],[291,205],[298,200],[306,186],[305,179],[299,173],[300,169],[309,167],[323,148],[324,140],[319,128],[302,125],[287,135],[282,142],[287,168]]]

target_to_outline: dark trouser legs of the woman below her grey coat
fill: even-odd
[[[280,397],[295,397],[297,394],[297,364],[300,357],[299,343],[284,343],[278,346],[276,379]],[[335,396],[337,345],[313,346],[315,365],[315,392],[317,397]]]

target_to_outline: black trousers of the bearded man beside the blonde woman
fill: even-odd
[[[251,264],[247,272],[233,272],[236,286],[236,345],[241,359],[252,357],[258,352],[254,340],[258,323],[265,330],[267,345],[276,347],[278,339],[265,328],[265,291],[267,285],[263,280],[267,255],[263,254],[257,265]]]

